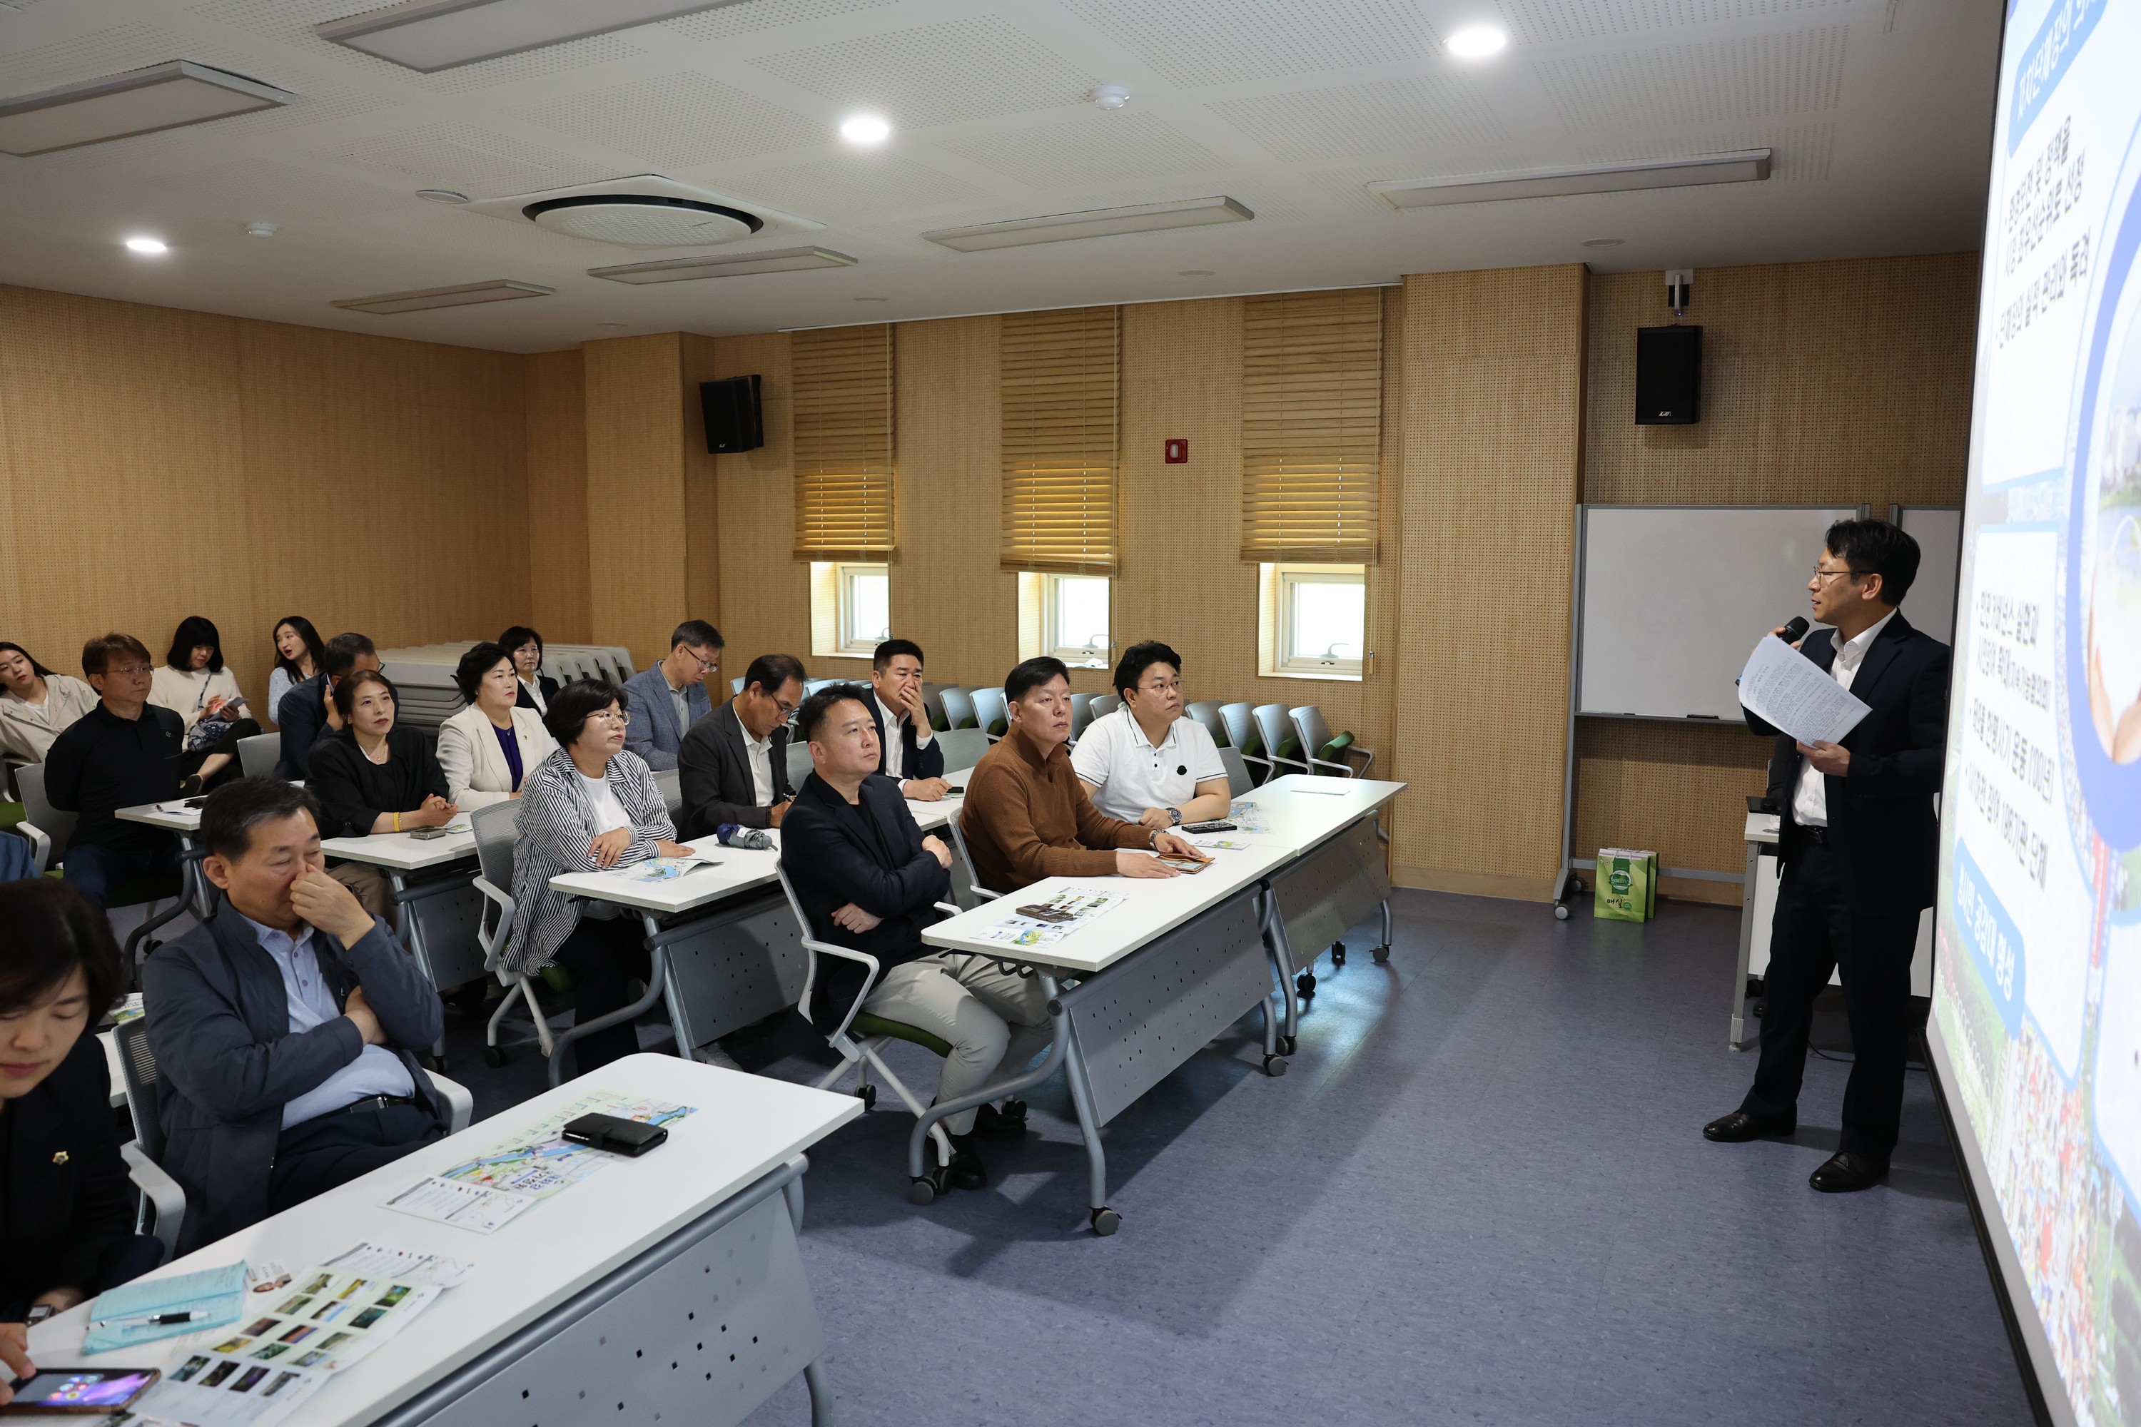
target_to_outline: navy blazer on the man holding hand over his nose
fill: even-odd
[[[415,958],[385,922],[347,948],[315,931],[313,950],[336,1006],[364,986],[417,1100],[443,1121],[415,1050],[439,1040],[445,1010]],[[283,973],[229,905],[141,965],[141,1001],[163,1078],[163,1168],[186,1190],[186,1254],[268,1217],[283,1106],[358,1059],[364,1038],[340,1016],[291,1033]]]

